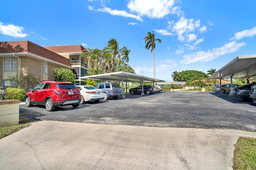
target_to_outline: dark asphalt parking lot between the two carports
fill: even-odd
[[[20,116],[47,121],[133,125],[147,127],[184,127],[256,130],[256,104],[229,97],[228,93],[161,91],[151,95],[130,95],[73,108],[57,107],[48,112],[44,106],[20,105]]]

